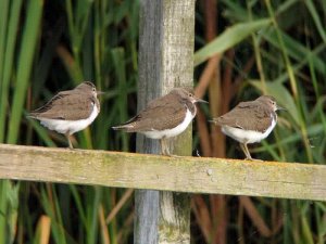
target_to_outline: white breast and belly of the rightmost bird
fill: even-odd
[[[241,143],[255,143],[268,137],[275,125],[276,120],[273,117],[272,126],[263,133],[255,130],[242,130],[229,126],[223,126],[222,132]]]

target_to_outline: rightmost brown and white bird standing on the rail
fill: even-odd
[[[222,132],[240,143],[246,159],[254,160],[247,144],[268,137],[277,123],[276,111],[285,110],[276,104],[272,95],[261,95],[254,101],[240,102],[228,113],[214,118]]]

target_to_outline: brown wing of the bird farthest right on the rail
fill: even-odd
[[[241,102],[234,110],[218,117],[216,123],[221,126],[264,132],[272,124],[272,117],[261,106],[262,104]]]

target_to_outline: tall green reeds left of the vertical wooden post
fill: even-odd
[[[128,137],[112,134],[110,127],[128,119],[127,98],[136,91],[138,1],[0,4],[5,21],[0,25],[1,142],[66,146],[62,136],[22,117],[23,112],[91,80],[105,91],[101,114],[74,143],[118,150],[122,141],[127,151]],[[23,128],[27,133],[20,132]],[[124,192],[1,181],[0,243],[125,243],[133,228],[130,194],[105,223]]]

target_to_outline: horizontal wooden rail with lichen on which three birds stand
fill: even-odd
[[[0,144],[0,179],[326,201],[326,166]]]

